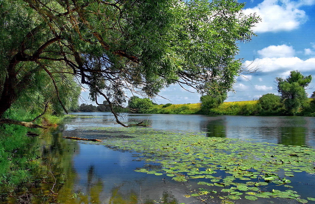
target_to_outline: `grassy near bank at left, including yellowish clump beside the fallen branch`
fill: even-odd
[[[25,111],[25,109],[11,108],[5,113],[5,117],[29,121],[38,113]],[[62,116],[52,115],[50,111],[39,118],[36,123],[46,127],[57,126]],[[28,182],[31,173],[38,165],[36,149],[27,132],[41,134],[43,130],[30,129],[20,125],[0,125],[0,185],[1,191],[13,189],[17,185]]]

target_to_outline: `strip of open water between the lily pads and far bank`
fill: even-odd
[[[67,129],[84,126],[117,126],[109,113],[73,113]],[[191,130],[207,132],[208,137],[256,139],[259,142],[315,147],[315,117],[292,116],[205,116],[175,114],[122,114],[121,120],[144,121],[158,130]],[[95,116],[97,118],[80,118]]]

